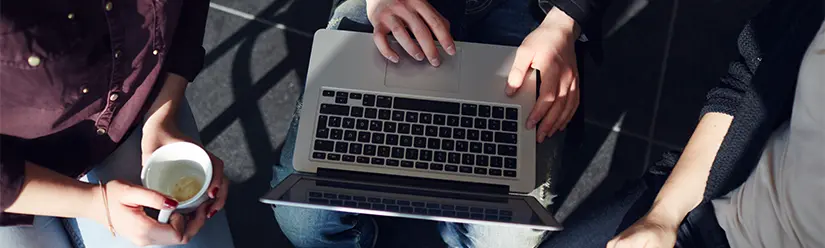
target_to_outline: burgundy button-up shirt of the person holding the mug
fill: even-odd
[[[0,1],[0,225],[26,163],[77,177],[138,124],[164,75],[203,68],[208,0]],[[160,82],[160,83],[159,83]]]

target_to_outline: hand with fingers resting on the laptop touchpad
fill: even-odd
[[[415,60],[421,61],[426,56],[432,66],[441,65],[433,33],[441,47],[448,54],[455,55],[450,22],[426,0],[367,0],[367,18],[372,23],[372,38],[378,51],[393,63],[398,63],[399,57],[387,40],[390,32]],[[418,44],[410,37],[407,28],[415,35]]]

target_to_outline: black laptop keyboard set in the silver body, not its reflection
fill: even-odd
[[[311,159],[515,178],[518,111],[323,88]]]

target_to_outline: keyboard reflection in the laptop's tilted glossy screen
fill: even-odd
[[[513,217],[513,211],[504,209],[439,204],[433,202],[391,199],[386,197],[378,198],[311,191],[309,192],[308,199],[309,203],[312,204],[381,210],[396,213],[423,214],[491,221],[511,221]]]

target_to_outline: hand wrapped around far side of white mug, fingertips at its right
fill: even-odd
[[[152,155],[152,152],[161,146],[175,142],[197,144],[195,140],[185,136],[178,130],[173,118],[158,117],[155,119],[155,116],[150,117],[143,126],[143,139],[141,140],[143,161],[146,161],[146,159]],[[212,160],[212,179],[206,191],[212,200],[198,207],[194,218],[187,223],[187,230],[189,230],[188,228],[190,226],[195,227],[193,231],[186,233],[189,238],[194,236],[200,227],[203,226],[205,219],[212,218],[215,213],[224,207],[229,192],[229,179],[223,174],[223,160],[209,151],[206,151],[206,153],[209,154],[209,158]],[[201,208],[204,210],[201,211]]]

